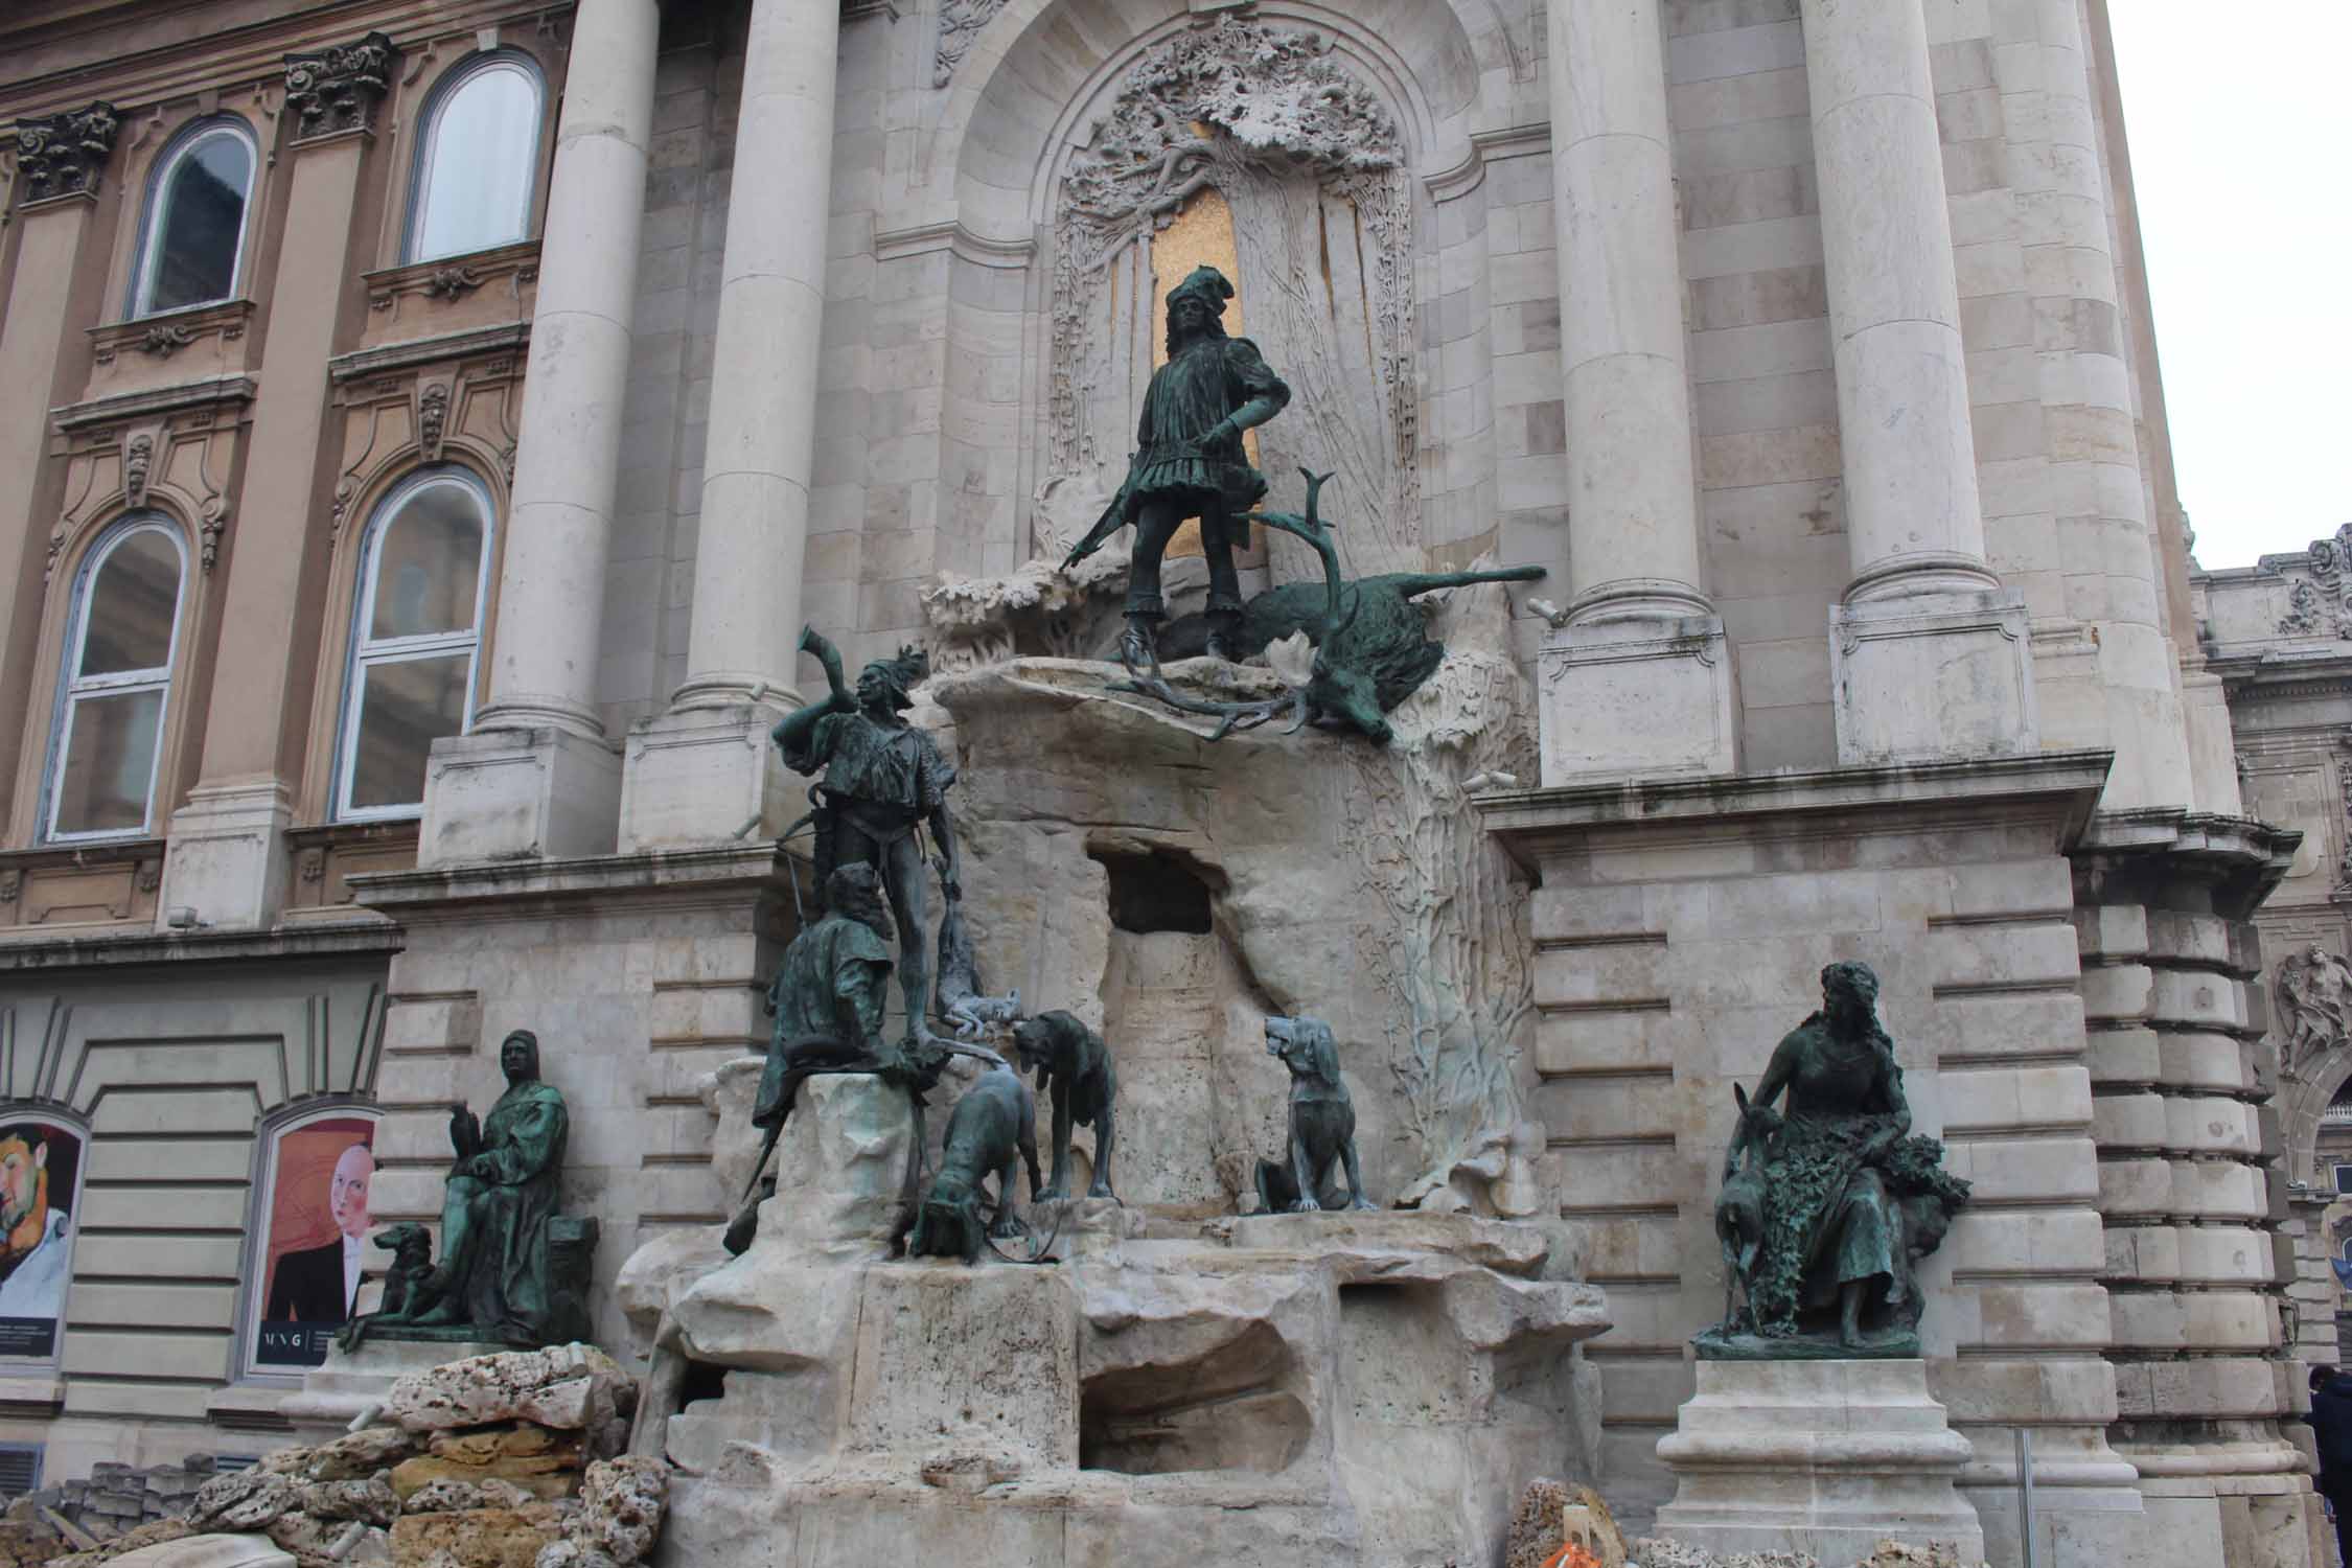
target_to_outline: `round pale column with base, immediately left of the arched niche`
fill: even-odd
[[[729,839],[788,806],[840,7],[757,0],[743,56],[687,682],[628,741],[621,844]]]

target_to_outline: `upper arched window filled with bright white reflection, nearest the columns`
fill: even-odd
[[[409,202],[409,261],[463,256],[532,233],[539,71],[515,54],[461,66],[426,106]]]

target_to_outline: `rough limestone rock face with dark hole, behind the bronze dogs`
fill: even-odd
[[[978,969],[1112,1041],[1129,1204],[1244,1206],[1284,1147],[1275,1011],[1331,1025],[1376,1204],[1545,1208],[1529,889],[1468,811],[1482,773],[1534,776],[1503,604],[1456,590],[1432,628],[1446,658],[1390,715],[1388,748],[1272,724],[1211,743],[1214,719],[1120,691],[1103,663],[931,682],[957,731]],[[1282,691],[1223,661],[1167,675],[1195,696]]]

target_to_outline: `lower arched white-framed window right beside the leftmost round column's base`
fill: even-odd
[[[426,755],[473,722],[489,491],[461,468],[400,484],[369,522],[350,635],[336,816],[414,816]]]

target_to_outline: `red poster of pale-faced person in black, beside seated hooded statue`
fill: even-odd
[[[376,1124],[322,1117],[280,1128],[261,1206],[261,1312],[254,1368],[299,1371],[327,1359],[367,1267],[367,1187]]]

